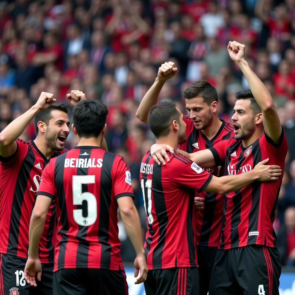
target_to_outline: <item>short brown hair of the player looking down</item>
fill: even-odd
[[[191,83],[183,91],[183,97],[185,99],[191,99],[195,97],[203,97],[204,102],[209,106],[213,101],[218,102],[218,95],[216,88],[207,81],[196,81]]]

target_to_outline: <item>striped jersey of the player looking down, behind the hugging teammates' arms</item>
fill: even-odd
[[[186,138],[187,141],[180,145],[181,150],[188,153],[194,153],[199,150],[205,150],[212,147],[217,142],[231,138],[233,133],[233,126],[223,120],[216,135],[209,140],[201,130],[194,127],[189,116],[184,116],[183,120],[186,122]],[[216,166],[205,169],[214,176],[224,175],[224,166]],[[196,242],[197,245],[218,247],[222,208],[224,204],[224,195],[215,193],[196,193],[196,196],[202,197],[204,201],[204,210],[196,212]]]

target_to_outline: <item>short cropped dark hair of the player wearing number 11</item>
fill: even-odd
[[[148,126],[156,138],[169,134],[173,120],[180,124],[175,101],[163,101],[155,104],[148,113]]]

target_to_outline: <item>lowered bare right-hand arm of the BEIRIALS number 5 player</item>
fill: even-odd
[[[145,262],[145,252],[143,250],[139,215],[131,196],[120,197],[117,199],[117,202],[125,230],[136,252],[136,258],[134,260],[134,276],[137,277],[140,270],[140,276],[135,282],[135,284],[139,284],[146,280],[148,274],[148,267]]]

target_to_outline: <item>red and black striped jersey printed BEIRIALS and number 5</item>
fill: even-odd
[[[55,200],[58,218],[54,271],[124,269],[118,238],[117,199],[134,197],[123,157],[79,146],[52,159],[37,195]]]

